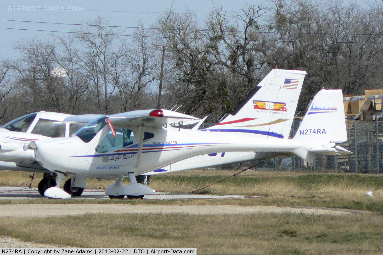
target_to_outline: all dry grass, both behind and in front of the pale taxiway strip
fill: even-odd
[[[190,170],[152,176],[156,191],[189,193],[236,171]],[[28,173],[0,172],[0,185],[29,184]],[[38,177],[36,174],[35,177]],[[41,178],[41,177],[39,177]],[[36,186],[40,179],[33,180]],[[113,181],[87,180],[88,188]],[[129,181],[126,180],[126,184]],[[367,196],[368,191],[373,197]],[[198,254],[381,254],[383,179],[350,173],[248,171],[201,193],[259,195],[258,199],[29,199],[0,203],[131,203],[315,206],[368,210],[343,216],[306,214],[87,214],[1,218],[0,235],[76,247],[191,247]]]

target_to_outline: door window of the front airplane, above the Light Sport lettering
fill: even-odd
[[[116,129],[115,131],[117,136],[114,137],[112,131],[109,131],[96,146],[97,152],[109,152],[133,144],[133,131],[130,129]]]

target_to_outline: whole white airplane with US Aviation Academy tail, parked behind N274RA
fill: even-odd
[[[287,139],[305,75],[306,72],[300,70],[271,70],[258,84],[257,88],[255,88],[229,116],[217,125],[203,130],[246,132],[251,134],[252,137]],[[82,127],[88,121],[99,116],[101,115],[85,114],[74,116],[62,113],[40,112],[27,114],[5,124],[3,127],[7,130],[0,128],[0,146],[3,147],[3,150],[0,149],[0,160],[4,160],[0,161],[0,169],[43,172],[43,180],[39,183],[39,193],[43,195],[47,188],[56,185],[56,173],[52,173],[42,167],[36,161],[31,150],[25,151],[22,149],[25,144],[27,144],[26,141],[64,136],[62,132],[65,133],[65,137],[70,136],[77,131],[79,127]],[[63,121],[65,121],[66,124]],[[43,127],[41,127],[42,124],[44,124]],[[193,129],[198,129],[200,124]],[[10,128],[15,125],[16,127]],[[23,128],[21,129],[19,126],[23,126]],[[235,129],[229,130],[228,126],[235,127]],[[58,127],[61,127],[61,133],[57,131]],[[67,131],[64,131],[65,128]],[[41,131],[41,129],[43,129],[43,131]],[[239,129],[241,130],[239,131]],[[25,134],[20,134],[20,132],[25,132]],[[38,132],[44,135],[44,137],[36,136],[35,134]],[[10,140],[7,137],[13,137],[13,139]],[[14,150],[9,151],[4,149],[6,147],[12,147]],[[267,159],[276,157],[279,153],[223,152],[219,153],[217,157],[216,155],[217,153],[212,153],[181,160],[180,162],[162,167],[148,174]],[[139,177],[140,178],[137,177],[137,181],[146,183],[147,175],[140,175]],[[81,185],[85,183],[85,180],[80,181],[80,179],[79,177],[75,178],[76,184]],[[64,184],[64,190],[74,196],[81,195],[83,188],[73,185],[75,184],[72,183],[71,186],[70,179],[67,180]]]

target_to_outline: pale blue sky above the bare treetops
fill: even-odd
[[[149,26],[157,20],[158,15],[170,8],[185,11],[185,8],[198,13],[201,19],[209,12],[213,3],[210,0],[88,0],[88,1],[0,1],[0,59],[13,58],[20,53],[12,49],[20,38],[44,38],[52,32],[28,31],[18,29],[38,29],[52,31],[71,31],[74,26],[42,23],[26,23],[17,21],[40,21],[55,23],[82,23],[94,20],[97,16],[111,18],[110,25],[136,26],[137,20],[142,19]],[[214,4],[223,4],[229,11],[239,11],[246,4],[257,4],[258,0],[213,0]],[[261,1],[263,2],[263,1]],[[383,4],[383,1],[360,0],[360,4]],[[7,29],[11,28],[11,29]],[[132,29],[124,29],[123,34],[131,34]],[[54,34],[62,34],[54,32]]]

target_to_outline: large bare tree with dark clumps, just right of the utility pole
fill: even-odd
[[[185,112],[229,113],[256,87],[265,63],[262,15],[262,6],[234,15],[214,6],[204,27],[191,12],[169,11],[159,18],[155,28],[170,48]]]

